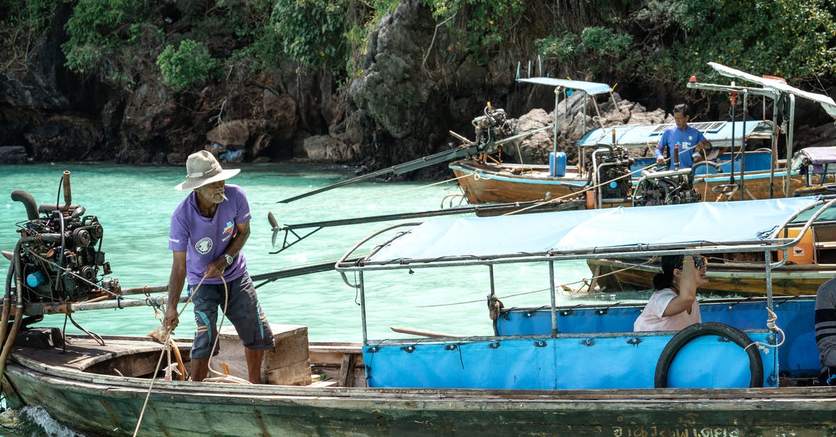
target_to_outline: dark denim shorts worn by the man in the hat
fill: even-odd
[[[248,273],[240,278],[227,282],[229,300],[225,312],[227,320],[232,322],[241,337],[244,347],[250,349],[272,349],[275,341],[270,324],[264,316],[258,303],[255,285]],[[223,311],[227,291],[223,284],[201,284],[194,290],[189,285],[189,294],[194,294],[191,303],[194,305],[197,331],[195,341],[191,346],[192,358],[208,358],[209,350],[217,338],[217,309]],[[213,355],[217,355],[220,347],[215,347]]]

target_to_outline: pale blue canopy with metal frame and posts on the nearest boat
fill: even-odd
[[[806,197],[437,219],[421,224],[393,225],[372,234],[349,249],[335,268],[346,284],[359,289],[363,337],[368,344],[363,275],[366,271],[454,265],[488,265],[492,269],[492,265],[546,261],[550,266],[550,290],[554,296],[555,260],[761,252],[765,255],[767,278],[770,278],[771,270],[788,259],[787,249],[797,245],[810,224],[834,203],[836,198],[833,197]],[[778,238],[782,229],[798,219],[799,214],[808,211],[812,214],[797,237]],[[744,217],[746,224],[740,223]],[[665,234],[647,226],[648,223],[665,223]],[[700,226],[706,223],[737,225],[714,227],[712,239],[706,240],[705,229]],[[363,259],[348,261],[366,242],[405,226],[411,229],[395,234]],[[506,229],[502,241],[480,238],[488,229],[497,227]],[[783,256],[780,261],[772,262],[772,251],[777,250],[782,250]],[[351,271],[359,273],[357,284],[350,283],[346,276]],[[771,280],[766,281],[766,288],[771,306]],[[554,312],[554,298],[551,306]]]

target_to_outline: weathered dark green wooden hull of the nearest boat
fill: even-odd
[[[84,432],[133,434],[150,380],[62,369],[38,356],[14,353],[4,384],[10,398],[38,404]],[[139,434],[824,435],[836,429],[834,401],[836,390],[813,387],[478,390],[157,381]]]

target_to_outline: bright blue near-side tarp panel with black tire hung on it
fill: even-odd
[[[750,333],[752,340],[762,342],[767,335]],[[366,383],[378,388],[653,388],[656,362],[671,337],[670,332],[625,332],[496,342],[387,343],[365,346],[363,358]],[[700,337],[686,345],[683,357],[675,358],[670,383],[748,387],[751,374],[746,353],[717,338]],[[777,353],[759,353],[765,386],[774,387]],[[706,377],[707,373],[712,376]]]

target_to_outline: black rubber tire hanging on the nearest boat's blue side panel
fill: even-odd
[[[665,348],[662,349],[662,353],[659,355],[659,361],[656,362],[655,388],[666,388],[668,386],[670,363],[674,361],[674,357],[676,357],[676,354],[679,353],[682,347],[697,337],[711,335],[726,337],[741,348],[752,344],[752,339],[745,332],[718,321],[706,321],[705,323],[695,323],[688,326],[682,331],[677,332],[670,339],[670,342],[665,345]],[[761,354],[757,352],[757,347],[749,347],[746,353],[749,357],[749,372],[752,373],[752,378],[749,380],[749,387],[763,387],[763,361],[761,360]]]

